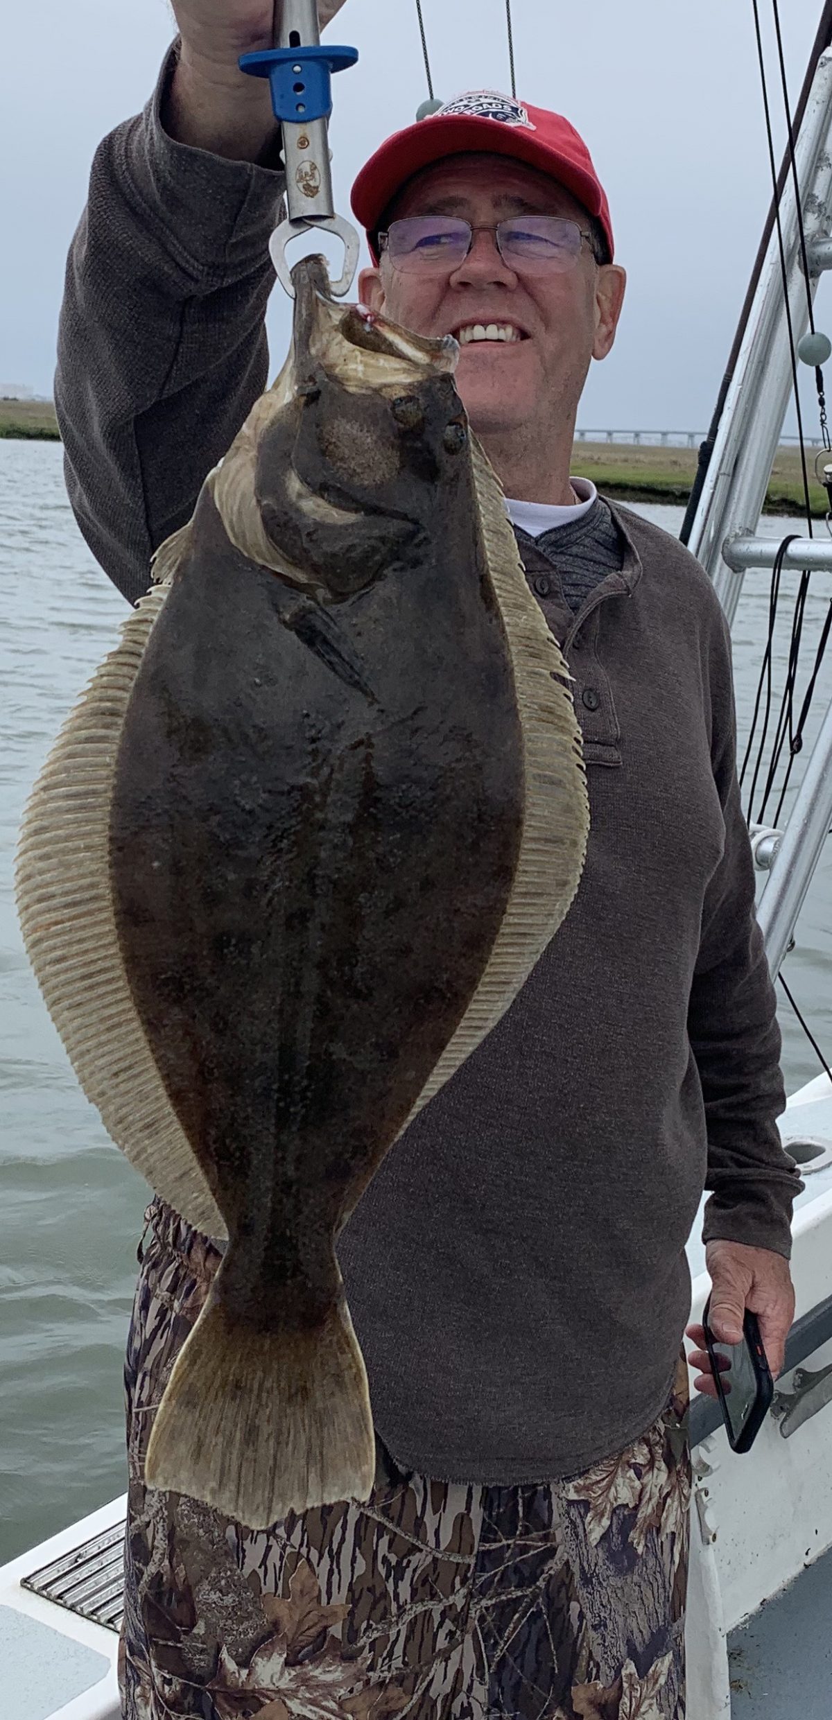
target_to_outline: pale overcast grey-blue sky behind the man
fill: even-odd
[[[437,93],[509,88],[504,0],[423,0]],[[762,0],[772,46],[770,0]],[[820,0],[784,0],[796,98]],[[617,346],[579,423],[705,428],[770,179],[751,0],[514,0],[519,95],[569,115],[607,187],[629,270]],[[167,0],[40,0],[0,24],[0,380],[52,392],[64,263],[100,138],[146,101],[174,36]],[[425,98],[414,0],[347,0],[330,28],[358,67],[335,83],[337,208],[373,146]],[[774,58],[770,58],[774,72]],[[777,105],[777,144],[784,143]],[[272,366],[289,315],[275,287]],[[832,323],[829,280],[818,322]],[[832,334],[832,329],[830,329]],[[815,432],[817,408],[810,406]]]

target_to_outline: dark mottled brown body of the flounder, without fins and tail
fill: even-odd
[[[229,1225],[218,1297],[256,1330],[313,1328],[339,1295],[333,1235],[476,991],[523,824],[452,382],[394,409],[309,380],[256,487],[327,605],[236,550],[205,490],[110,822],[131,991]],[[292,468],[354,519],[297,523]]]

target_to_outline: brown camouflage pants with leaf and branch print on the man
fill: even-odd
[[[146,1490],[175,1355],[220,1254],[170,1207],[127,1348],[124,1720],[684,1720],[688,1373],[583,1476],[431,1481],[376,1438],[370,1500],[244,1529]]]

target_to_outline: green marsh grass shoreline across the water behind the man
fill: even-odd
[[[52,401],[0,401],[0,439],[60,442]],[[822,519],[827,495],[813,475],[808,454],[811,513]],[[684,507],[696,476],[693,447],[645,447],[629,442],[576,442],[572,471],[591,478],[605,495],[622,502],[667,502]],[[799,449],[780,447],[765,502],[767,514],[801,514],[803,473]]]

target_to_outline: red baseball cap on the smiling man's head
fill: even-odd
[[[591,155],[574,126],[548,108],[533,108],[497,89],[471,89],[445,101],[428,119],[394,132],[370,157],[352,186],[352,213],[361,222],[373,261],[373,234],[401,186],[444,155],[512,155],[557,179],[595,215],[614,256],[610,206]]]

